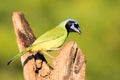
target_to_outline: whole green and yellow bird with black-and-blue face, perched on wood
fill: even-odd
[[[76,32],[81,34],[80,25],[75,19],[69,18],[61,22],[55,28],[45,32],[43,35],[38,37],[31,46],[19,52],[16,56],[11,58],[7,65],[13,63],[17,58],[29,51],[41,52],[44,55],[47,55],[50,58],[53,58],[48,52],[59,50],[59,48],[64,44],[69,33]],[[49,63],[48,63],[49,64]]]

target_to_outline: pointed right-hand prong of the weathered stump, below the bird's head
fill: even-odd
[[[54,61],[52,80],[85,80],[86,59],[74,41],[59,51]]]

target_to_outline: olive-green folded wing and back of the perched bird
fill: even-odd
[[[65,27],[55,27],[54,29],[44,33],[42,36],[40,36],[33,45],[42,43],[42,42],[48,42],[51,40],[55,40],[59,37],[66,36],[67,37],[67,31]]]

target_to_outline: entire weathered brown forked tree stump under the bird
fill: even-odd
[[[36,39],[29,23],[21,12],[12,16],[19,50],[29,47]],[[86,59],[74,41],[65,44],[55,57],[52,69],[39,52],[21,56],[24,80],[85,80]]]

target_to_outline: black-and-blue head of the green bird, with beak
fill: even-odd
[[[64,23],[64,26],[67,29],[68,33],[69,32],[77,32],[77,33],[81,34],[80,26],[76,20],[67,19],[63,23]]]

